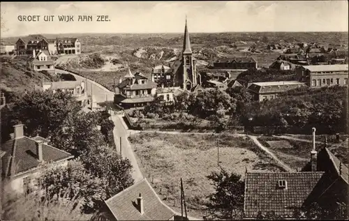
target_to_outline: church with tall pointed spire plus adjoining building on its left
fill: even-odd
[[[161,86],[180,87],[186,91],[193,91],[200,84],[200,74],[196,72],[196,63],[191,50],[187,22],[184,28],[184,43],[181,59],[171,62],[170,67],[156,66],[151,73],[151,80]]]

